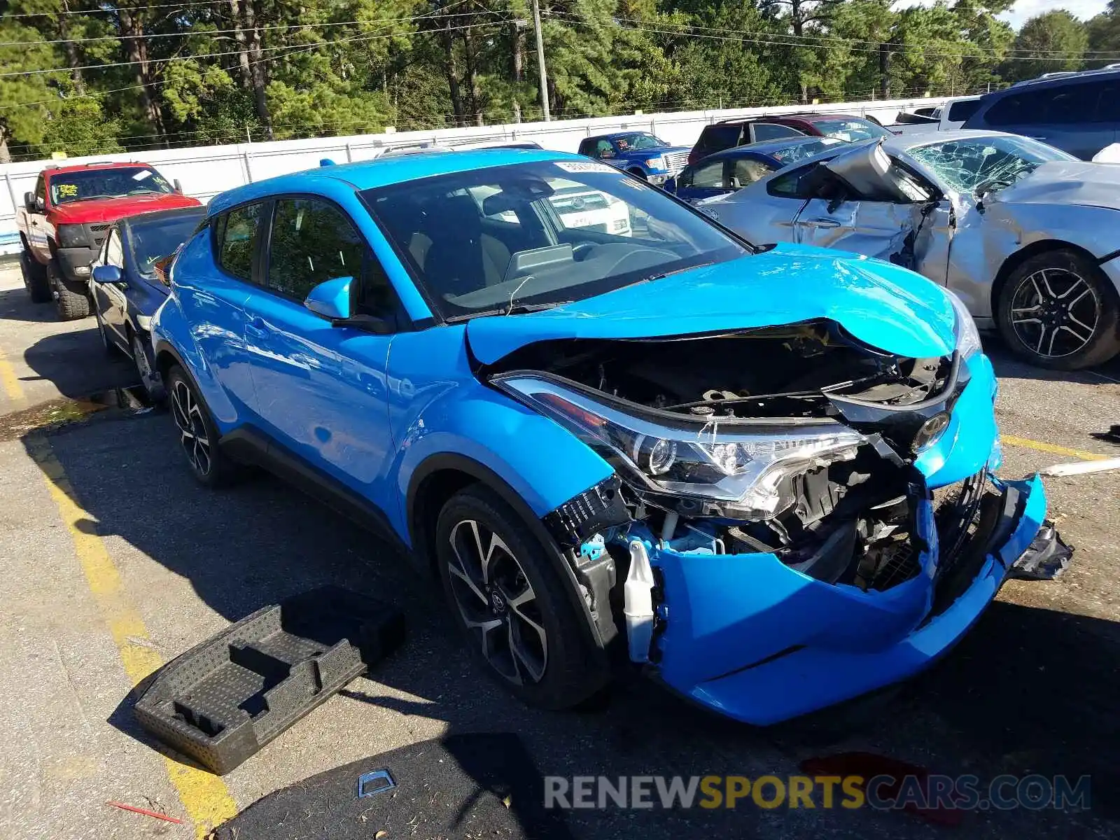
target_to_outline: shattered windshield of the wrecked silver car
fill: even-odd
[[[909,156],[953,189],[969,194],[980,186],[1009,187],[1040,164],[1075,160],[1052,146],[1011,134],[930,143],[911,149]]]

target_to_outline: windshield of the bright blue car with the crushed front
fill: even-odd
[[[488,167],[362,197],[444,318],[547,307],[749,248],[606,164]]]

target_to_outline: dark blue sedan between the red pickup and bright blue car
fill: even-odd
[[[151,317],[167,297],[161,261],[175,253],[203,221],[203,207],[125,216],[114,222],[93,262],[90,300],[106,353],[132,358],[149,396],[162,389],[151,358]]]

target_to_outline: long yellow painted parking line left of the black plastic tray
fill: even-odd
[[[164,664],[162,659],[151,647],[138,644],[150,641],[148,628],[140,614],[129,604],[121,588],[120,572],[101,538],[80,526],[80,523],[88,523],[91,516],[75,501],[74,487],[55,457],[49,441],[35,435],[28,438],[27,448],[43,469],[50,498],[74,541],[74,553],[85,573],[90,591],[97,599],[105,625],[120,653],[124,673],[137,685]],[[237,813],[233,796],[221,777],[183,764],[166,754],[164,759],[167,776],[175,786],[188,819],[194,823],[198,840],[203,840],[216,825]]]

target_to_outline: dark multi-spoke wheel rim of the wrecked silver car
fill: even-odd
[[[1100,319],[1096,289],[1067,269],[1028,274],[1011,297],[1016,338],[1044,358],[1062,358],[1083,349],[1096,335]]]

